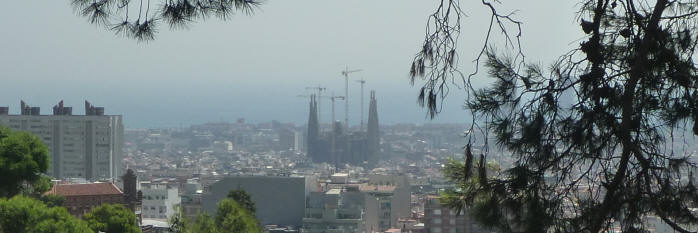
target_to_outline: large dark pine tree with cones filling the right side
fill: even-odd
[[[446,2],[459,7],[457,0]],[[645,232],[649,215],[674,231],[690,232],[685,226],[698,224],[692,210],[698,205],[696,164],[675,143],[698,135],[698,3],[579,2],[587,36],[549,69],[521,56],[501,56],[487,49],[486,39],[481,55],[491,84],[475,89],[470,81],[477,76],[456,75],[464,78],[471,132],[493,135],[515,162],[498,176],[471,177],[471,170],[484,169],[472,163],[471,134],[464,172],[447,175],[478,179],[459,195],[466,205],[487,204],[474,214],[504,232],[596,233],[612,226]],[[505,39],[518,39],[520,34],[498,27],[520,25],[507,21],[512,15],[498,15],[493,3],[482,3],[492,9],[492,23]],[[429,38],[425,45],[412,77],[425,81],[420,99],[434,114],[444,97],[438,90],[450,81],[443,68],[454,67],[443,62],[454,61],[453,50],[431,46]],[[485,140],[481,159],[489,153],[490,138]]]

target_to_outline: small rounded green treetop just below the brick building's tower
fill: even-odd
[[[102,204],[85,214],[90,228],[106,233],[138,233],[138,219],[130,209],[120,204]]]

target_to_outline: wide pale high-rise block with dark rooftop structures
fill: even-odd
[[[85,101],[85,115],[72,115],[63,101],[53,115],[41,115],[38,107],[21,102],[21,114],[0,109],[0,125],[28,131],[48,147],[51,164],[47,175],[56,179],[90,181],[118,179],[122,175],[124,126],[121,115],[104,115],[103,107]]]

